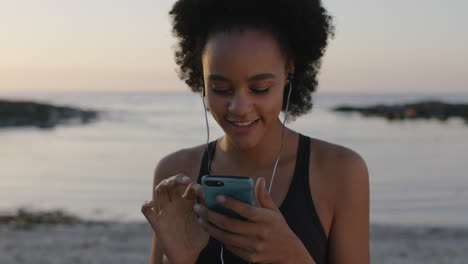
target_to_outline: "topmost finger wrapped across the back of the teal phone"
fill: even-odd
[[[231,209],[240,216],[247,218],[252,222],[261,222],[265,220],[266,217],[268,217],[265,215],[265,211],[262,208],[252,206],[229,196],[218,195],[216,197],[216,201],[223,207]]]

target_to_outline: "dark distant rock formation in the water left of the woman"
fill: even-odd
[[[96,111],[72,107],[28,101],[0,100],[0,128],[19,126],[53,128],[71,121],[86,124],[95,120],[97,116]]]

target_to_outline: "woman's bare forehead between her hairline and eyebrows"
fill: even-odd
[[[202,55],[203,68],[210,72],[259,71],[284,68],[286,59],[277,38],[265,30],[217,32]]]

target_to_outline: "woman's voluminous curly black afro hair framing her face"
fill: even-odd
[[[312,109],[311,94],[318,85],[321,58],[334,36],[332,17],[321,0],[178,0],[169,15],[178,39],[179,77],[192,91],[204,89],[201,56],[211,34],[268,29],[288,61],[294,61],[289,115],[298,117]],[[284,111],[286,96],[283,98]]]

